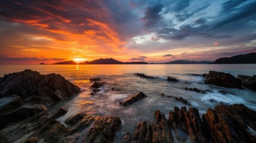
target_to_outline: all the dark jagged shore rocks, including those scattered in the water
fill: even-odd
[[[137,76],[155,78],[146,74]],[[90,86],[92,93],[107,86],[107,83],[97,82],[98,80],[100,79],[90,79],[90,82],[94,82]],[[179,80],[168,77],[167,81]],[[236,78],[217,71],[205,74],[205,83],[226,88],[255,89],[255,82],[255,76],[239,75]],[[212,92],[209,89],[184,89],[198,94]],[[67,117],[61,123],[58,119],[69,109],[60,107],[50,112],[45,106],[80,91],[78,86],[55,73],[43,75],[37,71],[24,70],[0,78],[0,143],[113,142],[116,133],[122,128],[120,117],[91,116],[82,112]],[[227,92],[220,93],[224,96]],[[220,104],[215,108],[208,108],[201,117],[198,108],[191,107],[184,98],[161,95],[163,98],[174,98],[189,108],[174,107],[169,113],[156,110],[155,115],[152,115],[155,116],[155,122],[144,120],[138,123],[134,126],[134,132],[123,133],[121,142],[256,142],[256,111],[243,104]],[[145,97],[147,95],[139,92],[119,102],[119,106],[128,108],[134,102],[143,102]]]

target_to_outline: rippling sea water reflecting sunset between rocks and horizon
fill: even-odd
[[[156,110],[162,111],[168,117],[169,111],[175,106],[185,105],[169,95],[182,97],[191,105],[196,107],[202,114],[208,108],[214,108],[217,104],[245,104],[256,110],[256,92],[249,89],[229,89],[214,85],[206,85],[202,76],[192,74],[208,73],[209,70],[223,71],[225,73],[245,74],[252,76],[256,74],[256,64],[149,64],[149,65],[0,65],[0,77],[4,74],[23,71],[25,69],[36,70],[41,74],[58,73],[70,82],[79,86],[82,92],[69,99],[48,105],[50,111],[58,107],[68,108],[65,116],[58,119],[64,124],[69,116],[84,111],[90,115],[118,116],[122,120],[122,126],[116,134],[115,142],[119,142],[122,133],[134,133],[135,127],[141,121],[155,123],[154,114]],[[144,79],[134,73],[144,73],[155,79]],[[167,77],[175,77],[180,82],[167,82]],[[91,95],[90,78],[99,77],[106,84],[101,91]],[[200,94],[186,91],[184,88],[210,89],[212,92]],[[115,88],[114,91],[111,89]],[[118,90],[116,90],[118,89]],[[229,92],[226,95],[218,91]],[[124,107],[119,102],[127,97],[144,92],[147,98],[134,102]],[[164,93],[165,96],[161,96]],[[210,100],[215,100],[211,102]]]

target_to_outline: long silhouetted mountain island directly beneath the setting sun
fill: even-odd
[[[78,64],[75,63],[75,61],[63,61],[63,62],[58,62],[58,63],[54,63],[54,64]],[[122,61],[117,61],[113,58],[100,58],[98,60],[94,60],[94,61],[85,61],[84,63],[81,64],[149,64],[146,63],[144,61],[132,61],[132,62],[122,62]]]

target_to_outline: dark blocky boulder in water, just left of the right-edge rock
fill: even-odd
[[[242,88],[240,79],[236,79],[236,77],[229,73],[218,71],[209,71],[205,78],[205,83],[226,88]]]

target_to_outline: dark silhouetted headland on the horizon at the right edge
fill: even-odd
[[[256,52],[233,57],[218,58],[214,64],[256,64]]]

